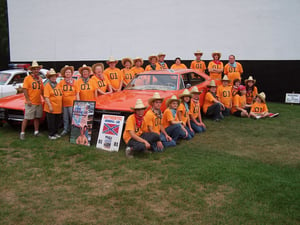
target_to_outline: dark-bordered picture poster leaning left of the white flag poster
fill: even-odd
[[[90,146],[95,101],[74,101],[70,143]]]

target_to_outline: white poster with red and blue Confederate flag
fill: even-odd
[[[119,151],[124,116],[102,115],[97,148],[106,151]]]

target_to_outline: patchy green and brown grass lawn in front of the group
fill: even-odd
[[[300,224],[300,107],[125,158],[0,128],[0,224]]]

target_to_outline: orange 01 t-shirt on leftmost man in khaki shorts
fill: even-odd
[[[42,104],[41,95],[44,90],[44,84],[41,78],[37,81],[31,75],[26,76],[23,82],[23,88],[27,90],[29,100],[33,105]]]

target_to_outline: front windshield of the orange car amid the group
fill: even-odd
[[[177,90],[176,74],[139,74],[126,87],[129,90]]]

